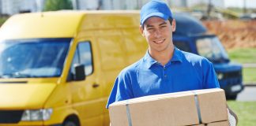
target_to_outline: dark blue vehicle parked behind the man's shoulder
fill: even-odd
[[[174,13],[174,18],[177,24],[173,35],[175,46],[212,61],[226,97],[235,99],[243,91],[242,65],[230,61],[217,36],[208,34],[199,20],[186,13]]]

